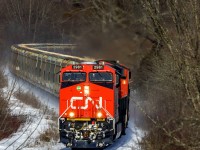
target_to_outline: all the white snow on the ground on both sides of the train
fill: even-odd
[[[6,74],[9,78],[9,86],[4,88],[5,94],[9,92],[12,88],[12,83],[15,77],[6,69]],[[32,84],[29,84],[21,79],[17,79],[17,87],[21,87],[24,91],[31,91],[34,93],[36,97],[45,105],[49,107],[49,109],[53,109],[58,114],[59,102],[58,98],[35,87]],[[126,129],[126,135],[122,136],[120,139],[117,139],[111,146],[107,147],[106,150],[132,150],[139,149],[138,141],[141,140],[144,135],[143,131],[137,128],[134,125],[134,110],[131,109],[133,107],[133,102],[130,103],[130,120],[129,127]],[[28,105],[21,103],[14,96],[11,96],[10,107],[12,110],[12,114],[19,114],[28,116],[24,125],[22,125],[18,131],[12,134],[9,138],[3,139],[0,141],[0,150],[68,150],[61,143],[52,141],[48,143],[39,144],[33,147],[33,144],[38,138],[38,136],[48,129],[49,123],[51,120],[48,119],[47,115],[44,114],[44,110],[38,110],[32,108]],[[30,146],[31,145],[31,146]]]

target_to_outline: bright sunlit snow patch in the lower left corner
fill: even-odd
[[[4,93],[7,95],[6,91],[9,92],[10,89],[4,88]],[[29,140],[30,136],[36,137],[48,127],[48,120],[45,119],[42,110],[34,109],[21,103],[13,95],[10,98],[9,106],[11,114],[27,116],[27,119],[25,124],[22,125],[12,137],[0,141],[0,149],[21,149],[24,144],[26,144],[26,141]]]

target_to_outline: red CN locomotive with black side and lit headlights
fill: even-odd
[[[116,61],[68,65],[60,71],[60,141],[77,148],[104,148],[129,120],[130,70]]]

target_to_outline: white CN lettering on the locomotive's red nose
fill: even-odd
[[[83,97],[72,97],[71,99],[70,99],[70,107],[72,108],[72,109],[87,109],[88,108],[88,102],[90,101],[90,102],[92,102],[92,104],[94,105],[94,102],[95,101],[97,101],[98,102],[98,105],[96,104],[96,109],[100,109],[100,108],[102,108],[102,97],[99,97],[99,99],[97,99],[97,100],[93,100],[91,97],[87,97],[86,99],[85,99],[85,105],[84,106],[79,106],[78,108],[76,108],[76,106],[74,106],[74,102],[75,101],[82,101],[83,100]]]

